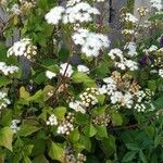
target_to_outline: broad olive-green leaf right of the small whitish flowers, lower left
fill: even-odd
[[[21,130],[17,131],[18,136],[27,137],[36,131],[38,131],[41,127],[38,126],[38,123],[35,121],[26,121],[21,125]]]

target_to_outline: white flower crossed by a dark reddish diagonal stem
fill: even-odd
[[[60,65],[60,74],[63,76],[71,77],[74,71],[71,64],[64,63]]]

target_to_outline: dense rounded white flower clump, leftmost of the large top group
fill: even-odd
[[[46,14],[46,20],[49,24],[57,25],[62,20],[62,15],[65,12],[63,7],[54,7]]]

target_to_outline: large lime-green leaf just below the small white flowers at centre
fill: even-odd
[[[75,72],[72,76],[72,79],[76,84],[83,84],[84,87],[97,87],[96,83],[93,79],[91,79],[88,75],[80,73],[80,72]]]

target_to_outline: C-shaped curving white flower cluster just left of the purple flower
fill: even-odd
[[[127,60],[124,57],[123,51],[117,48],[112,49],[109,52],[109,57],[114,61],[115,66],[123,71],[127,68],[129,68],[130,71],[138,70],[138,63],[133,60]]]

